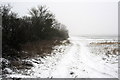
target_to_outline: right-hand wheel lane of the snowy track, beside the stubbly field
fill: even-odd
[[[79,51],[78,53],[80,54],[79,59],[80,61],[82,61],[82,63],[80,63],[80,65],[82,66],[78,66],[78,70],[82,70],[84,69],[84,72],[87,72],[87,75],[85,75],[82,71],[80,71],[80,74],[84,74],[84,75],[80,75],[78,77],[81,78],[117,78],[117,74],[115,73],[115,71],[113,69],[108,68],[106,65],[104,65],[104,62],[99,63],[97,62],[97,57],[93,57],[94,55],[92,55],[89,52],[89,49],[86,47],[86,43],[80,42],[80,41],[76,41],[76,44],[79,44],[81,46],[81,51]],[[111,74],[110,72],[112,72],[113,74]],[[91,74],[92,73],[92,74]]]

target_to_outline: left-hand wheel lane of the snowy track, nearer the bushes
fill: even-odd
[[[65,78],[70,77],[69,69],[74,67],[76,62],[76,53],[77,53],[76,45],[73,44],[69,52],[67,52],[61,61],[56,66],[56,70],[52,73],[52,77],[54,78]]]

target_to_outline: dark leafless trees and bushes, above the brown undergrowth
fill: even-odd
[[[66,26],[59,23],[45,6],[31,8],[28,16],[19,17],[10,5],[1,5],[2,49],[20,49],[26,42],[68,38]]]

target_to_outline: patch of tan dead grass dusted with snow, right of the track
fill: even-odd
[[[119,55],[120,42],[92,42],[89,47],[92,49],[92,53],[100,54],[105,53],[109,55]]]

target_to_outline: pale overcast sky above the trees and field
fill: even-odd
[[[72,35],[117,35],[118,0],[1,0],[27,15],[31,7],[46,5]],[[12,1],[12,2],[11,2]]]

